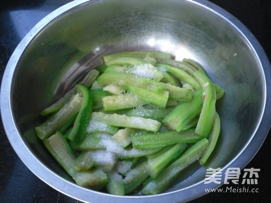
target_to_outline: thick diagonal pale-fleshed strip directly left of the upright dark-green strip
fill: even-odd
[[[82,100],[83,98],[81,98],[79,94],[73,96],[69,103],[65,104],[58,112],[35,128],[36,135],[40,139],[44,139],[55,134],[57,130],[79,112]]]

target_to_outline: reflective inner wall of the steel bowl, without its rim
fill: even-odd
[[[72,8],[39,32],[14,73],[13,115],[40,162],[72,181],[34,135],[43,121],[39,113],[102,64],[102,56],[140,50],[192,59],[225,90],[217,102],[222,126],[212,157],[206,166],[195,163],[183,171],[166,192],[198,183],[206,168],[222,168],[235,158],[257,128],[265,94],[261,65],[245,37],[195,2],[97,0]]]

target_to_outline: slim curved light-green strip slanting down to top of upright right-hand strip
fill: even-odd
[[[186,82],[190,85],[192,85],[196,90],[201,88],[201,85],[199,82],[191,75],[189,75],[187,72],[185,72],[182,69],[179,68],[173,68],[166,64],[156,64],[157,67],[166,68],[168,72],[173,74],[175,77],[177,77],[180,81]]]

